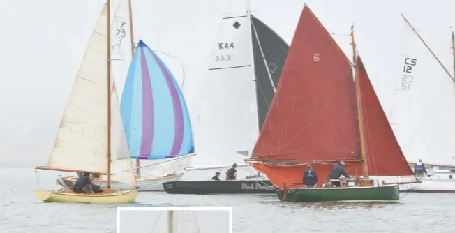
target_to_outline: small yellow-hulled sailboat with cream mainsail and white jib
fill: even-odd
[[[107,176],[103,193],[72,190],[36,190],[45,202],[134,202],[137,189],[126,144],[115,85],[111,83],[110,0],[103,7],[91,35],[70,98],[61,119],[57,140],[46,167],[36,170],[90,172]],[[129,185],[110,189],[111,181]]]

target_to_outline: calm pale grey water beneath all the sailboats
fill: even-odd
[[[47,174],[46,174],[47,173]],[[56,174],[39,172],[54,186]],[[276,195],[139,193],[133,204],[43,203],[31,169],[0,169],[0,232],[115,232],[117,206],[232,206],[233,232],[455,232],[455,195],[405,195],[398,204],[290,203]],[[47,187],[44,187],[47,188]],[[403,195],[403,194],[402,194]]]

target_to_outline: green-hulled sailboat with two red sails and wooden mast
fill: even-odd
[[[269,114],[247,160],[293,202],[396,202],[398,184],[368,176],[408,176],[412,170],[357,56],[352,64],[313,12],[304,6]],[[274,165],[270,162],[292,162]],[[333,165],[345,162],[350,178],[321,187]],[[317,188],[302,184],[307,165]]]

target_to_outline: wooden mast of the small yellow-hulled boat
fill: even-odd
[[[110,0],[107,0],[107,188],[110,188]]]

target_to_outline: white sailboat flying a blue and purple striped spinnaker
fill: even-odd
[[[139,191],[163,190],[164,182],[181,178],[182,174],[172,173],[174,164],[171,163],[178,163],[179,158],[184,160],[188,157],[186,155],[193,155],[193,135],[186,102],[170,70],[142,41],[137,45],[136,52],[134,50],[130,1],[120,0],[113,17],[114,33],[111,39],[114,44],[111,52],[115,66],[112,71],[119,79],[126,77],[121,95],[121,115],[130,156],[136,159],[137,187]],[[142,59],[142,53],[147,59]],[[149,69],[142,72],[142,67]],[[154,87],[154,91],[151,92],[151,88],[142,88],[142,85]],[[168,132],[172,128],[175,132]],[[175,140],[181,142],[174,143],[172,133],[176,135]],[[179,148],[181,150],[176,151]],[[140,160],[153,160],[155,163],[143,166],[153,169],[142,174]],[[57,179],[57,182],[66,188],[73,187],[76,181],[77,176]],[[105,179],[95,179],[95,182],[103,188],[107,186]],[[124,190],[128,188],[128,184],[112,182],[111,188]]]

